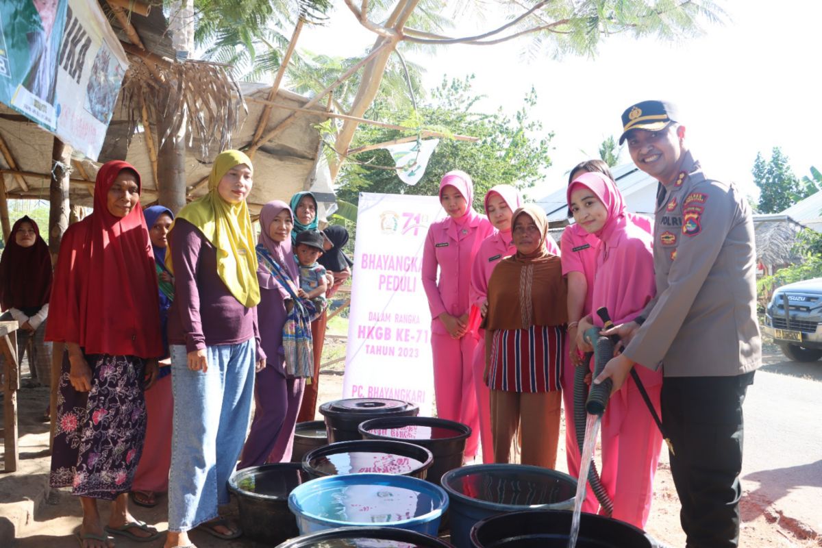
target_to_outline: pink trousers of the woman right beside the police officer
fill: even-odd
[[[659,416],[662,385],[646,387]],[[608,400],[602,425],[603,486],[614,503],[613,518],[645,528],[653,498],[663,436],[632,379]]]

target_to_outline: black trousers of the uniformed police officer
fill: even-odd
[[[663,424],[676,454],[671,473],[687,548],[739,544],[742,402],[754,371],[732,377],[665,377]]]

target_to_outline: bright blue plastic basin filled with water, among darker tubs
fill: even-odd
[[[348,474],[307,481],[289,495],[301,535],[335,527],[394,527],[436,536],[448,495],[416,477]]]

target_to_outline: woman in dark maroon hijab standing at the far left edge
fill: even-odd
[[[48,245],[34,219],[17,219],[0,258],[0,320],[16,320],[17,356],[29,348],[29,370],[43,385],[51,383],[51,343],[43,334],[48,316],[52,269]],[[30,338],[34,344],[29,347]],[[2,358],[0,358],[2,362]]]

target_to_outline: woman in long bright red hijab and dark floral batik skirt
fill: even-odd
[[[128,512],[145,439],[143,390],[163,353],[154,254],[140,208],[140,175],[118,160],[95,182],[95,210],[62,237],[46,338],[65,343],[51,486],[72,486],[85,548],[106,533],[150,541],[159,532]],[[111,500],[102,526],[97,499]]]

